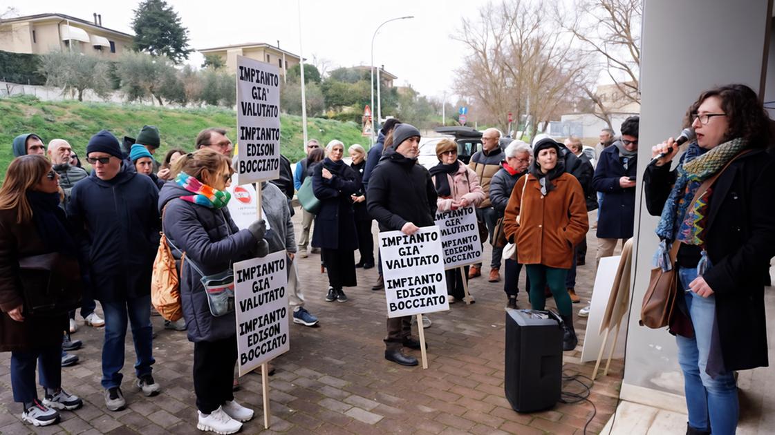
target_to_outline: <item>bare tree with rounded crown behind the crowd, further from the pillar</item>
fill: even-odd
[[[486,108],[479,119],[505,128],[509,111],[518,121],[529,115],[529,134],[535,135],[539,122],[573,106],[592,80],[575,37],[557,31],[545,5],[504,0],[480,9],[477,22],[463,19],[460,36],[454,38],[470,53],[457,71],[456,88]]]

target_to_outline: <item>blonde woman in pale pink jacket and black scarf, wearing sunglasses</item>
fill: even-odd
[[[439,211],[457,210],[470,205],[475,207],[484,200],[479,176],[457,159],[457,144],[452,139],[442,139],[436,144],[436,157],[439,158],[439,164],[429,172],[436,185],[436,205]],[[468,281],[468,266],[464,270]],[[460,276],[457,268],[446,271],[446,293],[453,296],[449,298],[449,303],[463,300],[464,285],[463,276]]]

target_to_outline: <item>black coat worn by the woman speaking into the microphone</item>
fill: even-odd
[[[757,150],[735,160],[711,187],[705,238],[712,266],[704,279],[715,294],[716,324],[727,371],[762,367],[768,362],[764,277],[775,255],[773,174],[775,159]],[[669,165],[646,167],[643,182],[650,214],[662,213],[675,178]]]

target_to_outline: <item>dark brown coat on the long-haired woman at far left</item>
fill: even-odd
[[[62,343],[67,316],[13,320],[8,312],[22,305],[19,259],[51,252],[33,221],[16,223],[15,210],[0,210],[0,351],[29,351]]]

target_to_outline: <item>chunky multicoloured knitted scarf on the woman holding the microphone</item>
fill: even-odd
[[[690,210],[691,200],[704,180],[708,180],[721,170],[743,149],[746,149],[746,143],[740,138],[724,142],[708,152],[704,152],[694,142],[687,149],[684,163],[677,168],[678,178],[662,209],[660,223],[656,226],[656,235],[670,243],[680,241],[703,248],[703,257],[698,270],[704,270],[707,267],[707,257],[704,253],[704,228],[707,224],[708,204],[710,204],[712,190],[708,189],[707,194],[698,198]],[[666,249],[667,244],[661,243],[660,251]],[[657,255],[664,258],[667,252],[657,252]]]

